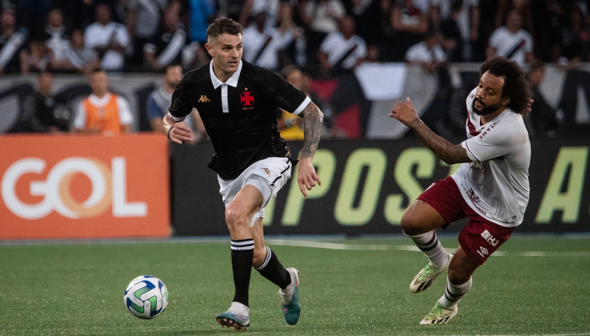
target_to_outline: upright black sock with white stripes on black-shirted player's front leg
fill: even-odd
[[[234,271],[235,295],[233,302],[248,307],[248,288],[254,258],[254,239],[231,240],[231,269]]]

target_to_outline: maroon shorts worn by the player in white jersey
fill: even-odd
[[[443,229],[456,220],[469,218],[467,225],[459,233],[459,244],[477,265],[483,264],[491,253],[496,252],[514,230],[490,222],[471,209],[451,176],[432,183],[418,199],[440,213],[447,222],[442,226]]]

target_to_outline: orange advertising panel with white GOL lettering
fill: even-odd
[[[0,239],[168,236],[167,140],[0,136]]]

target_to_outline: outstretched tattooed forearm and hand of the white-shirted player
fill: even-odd
[[[467,150],[461,147],[460,144],[454,145],[446,139],[437,136],[432,130],[428,128],[422,120],[418,118],[416,108],[414,104],[406,99],[406,103],[398,101],[392,109],[389,117],[396,118],[401,121],[405,126],[416,133],[416,136],[422,143],[425,144],[432,153],[440,157],[442,161],[447,164],[471,162],[471,159],[467,156]]]

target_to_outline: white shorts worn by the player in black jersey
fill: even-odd
[[[230,205],[235,195],[245,186],[252,185],[257,187],[263,195],[264,201],[260,210],[254,214],[250,226],[258,218],[264,218],[264,207],[268,204],[271,197],[277,196],[278,190],[287,183],[291,177],[291,161],[287,157],[268,157],[251,164],[244,172],[234,180],[222,180],[219,175],[219,193],[223,197],[225,207]]]

